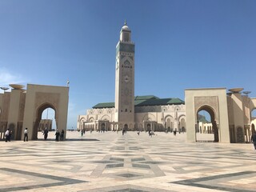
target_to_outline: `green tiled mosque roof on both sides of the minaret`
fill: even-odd
[[[134,98],[134,106],[166,106],[181,104],[185,104],[185,102],[179,98],[158,98],[154,95],[136,96]],[[96,106],[93,106],[94,109],[113,107],[114,102],[101,102]]]

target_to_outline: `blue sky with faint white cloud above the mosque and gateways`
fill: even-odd
[[[243,87],[256,97],[254,0],[0,0],[0,86],[66,86],[68,128],[114,102],[115,46],[135,43],[135,95]],[[2,93],[2,90],[1,92]]]

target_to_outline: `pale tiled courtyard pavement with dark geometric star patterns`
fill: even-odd
[[[252,144],[157,134],[68,132],[65,142],[0,142],[0,191],[256,191]]]

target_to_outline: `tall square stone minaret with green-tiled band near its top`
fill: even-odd
[[[134,128],[134,43],[130,35],[125,22],[116,46],[114,121],[119,130]]]

